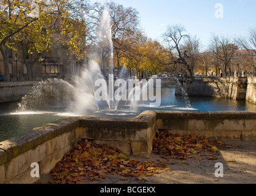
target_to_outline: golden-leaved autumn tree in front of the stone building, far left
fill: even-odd
[[[15,22],[20,21],[21,28],[15,31],[15,28],[18,28],[15,25],[16,27],[12,30],[15,33],[9,36],[12,39],[5,43],[5,50],[12,48],[15,51],[21,51],[20,57],[27,67],[29,80],[32,80],[34,64],[40,62],[42,54],[52,49],[53,45],[55,48],[65,48],[69,55],[75,55],[77,59],[85,56],[86,31],[83,16],[88,10],[87,1],[45,0],[36,4],[26,2],[25,4],[23,1],[15,1],[15,7],[12,6],[13,3],[8,4],[9,10],[12,10],[9,13],[9,23],[15,25]],[[26,12],[17,13],[17,10],[24,6],[26,6]],[[22,10],[24,11],[24,8]],[[31,13],[35,10],[36,18],[31,19],[34,17]],[[26,58],[28,55],[32,55],[31,61]],[[9,80],[8,76],[9,70],[6,71],[7,80]]]

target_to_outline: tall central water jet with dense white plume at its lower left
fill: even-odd
[[[114,92],[114,78],[112,77],[113,73],[113,43],[112,43],[112,34],[111,34],[111,18],[107,9],[104,9],[101,16],[101,23],[98,26],[96,32],[97,42],[98,42],[98,52],[101,54],[103,69],[101,70],[96,59],[89,59],[89,66],[87,69],[83,70],[81,77],[76,80],[76,94],[74,94],[74,99],[76,100],[74,104],[70,107],[71,110],[84,112],[92,106],[100,110],[98,103],[95,100],[95,90],[98,86],[95,86],[96,80],[107,81],[104,79],[103,73],[104,65],[110,63],[111,75],[109,75],[109,92],[102,91],[102,97],[106,100],[107,105],[111,108],[110,96]],[[95,51],[96,52],[96,51]],[[95,57],[95,55],[93,55]],[[108,73],[109,74],[109,73]],[[106,85],[107,86],[107,85]]]

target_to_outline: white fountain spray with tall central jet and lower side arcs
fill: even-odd
[[[88,67],[82,71],[79,77],[72,81],[72,85],[67,81],[56,78],[41,81],[38,85],[34,86],[32,92],[29,92],[29,94],[22,98],[19,104],[20,110],[63,108],[68,113],[86,114],[103,110],[117,111],[119,106],[122,106],[120,110],[123,110],[124,107],[128,107],[128,102],[130,102],[128,111],[136,112],[138,101],[141,100],[141,97],[143,101],[147,100],[148,85],[150,85],[150,89],[153,89],[154,80],[150,79],[147,81],[144,79],[139,81],[138,79],[130,79],[127,77],[126,68],[123,67],[118,75],[118,80],[114,81],[111,19],[107,9],[103,11],[96,35],[98,51],[100,51],[103,60],[102,70],[97,63],[97,59],[89,58]],[[95,57],[97,55],[91,56]],[[107,59],[104,59],[103,56],[104,58],[107,57]],[[111,72],[109,73],[108,80],[103,75],[106,68],[106,62],[104,61],[110,64],[108,68]],[[157,100],[151,91],[149,91],[149,95],[153,97],[150,100]],[[159,93],[158,97],[160,97]],[[120,102],[125,103],[120,105]]]

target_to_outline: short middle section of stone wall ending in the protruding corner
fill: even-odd
[[[82,118],[81,138],[115,145],[126,154],[148,156],[155,137],[154,111],[144,111],[136,118]]]

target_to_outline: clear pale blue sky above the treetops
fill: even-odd
[[[91,0],[95,2],[96,0]],[[98,0],[104,3],[106,0]],[[168,25],[184,25],[187,34],[208,45],[211,34],[246,36],[256,27],[255,0],[114,0],[138,10],[145,34],[161,42]],[[223,18],[216,18],[215,4],[222,4]]]

